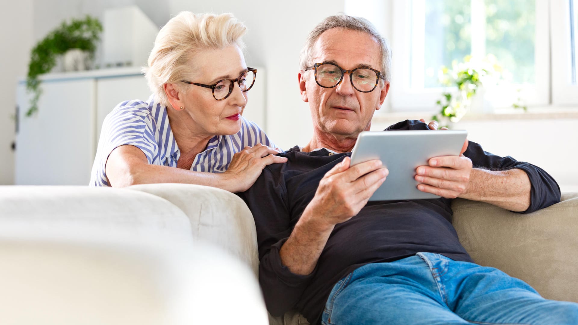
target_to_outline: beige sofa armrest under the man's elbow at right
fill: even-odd
[[[578,302],[578,193],[527,215],[454,200],[453,225],[480,265],[501,269],[543,297]]]

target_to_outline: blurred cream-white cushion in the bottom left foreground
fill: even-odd
[[[200,242],[0,237],[0,261],[2,324],[268,323],[250,268]]]

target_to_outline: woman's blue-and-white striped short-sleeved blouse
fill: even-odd
[[[233,155],[245,146],[262,143],[275,147],[257,124],[243,116],[240,120],[241,130],[236,134],[216,135],[209,140],[206,149],[195,156],[191,171],[222,173],[229,167]],[[109,186],[105,173],[106,160],[112,150],[122,145],[138,147],[149,164],[177,167],[179,147],[171,131],[166,108],[155,101],[154,95],[148,102],[121,102],[106,116],[92,165],[91,186]]]

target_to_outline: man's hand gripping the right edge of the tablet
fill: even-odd
[[[429,166],[417,168],[417,189],[423,192],[440,195],[444,198],[457,198],[468,189],[472,161],[464,157],[468,149],[468,139],[464,142],[460,156],[433,157],[428,161]]]

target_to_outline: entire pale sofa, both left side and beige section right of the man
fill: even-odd
[[[578,302],[578,193],[529,215],[452,208],[477,263]],[[0,186],[2,324],[265,324],[257,269],[253,217],[227,191]]]

